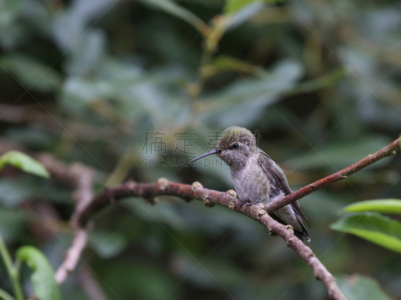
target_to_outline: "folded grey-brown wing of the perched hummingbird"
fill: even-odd
[[[284,193],[284,195],[289,195],[292,193],[284,171],[262,150],[260,151],[258,161],[262,169],[266,172],[267,176],[269,176],[270,180]],[[310,226],[308,219],[306,219],[304,213],[299,207],[298,201],[294,201],[290,205],[296,214],[300,216],[301,219],[308,224],[308,226]]]

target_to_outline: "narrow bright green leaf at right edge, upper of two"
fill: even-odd
[[[356,202],[346,206],[342,212],[367,212],[373,211],[383,214],[401,214],[401,200],[382,199]]]

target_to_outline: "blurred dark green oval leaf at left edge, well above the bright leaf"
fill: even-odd
[[[27,89],[51,92],[61,88],[60,74],[40,61],[19,54],[3,56],[0,71],[11,73]]]

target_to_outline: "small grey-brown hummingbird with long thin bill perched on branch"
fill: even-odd
[[[223,131],[216,148],[189,163],[216,154],[229,167],[231,179],[240,201],[240,207],[257,203],[268,203],[292,193],[284,171],[256,145],[255,135],[242,127],[228,127]],[[291,225],[294,234],[309,242],[304,222],[308,220],[298,201],[280,208],[271,214],[276,221]]]

